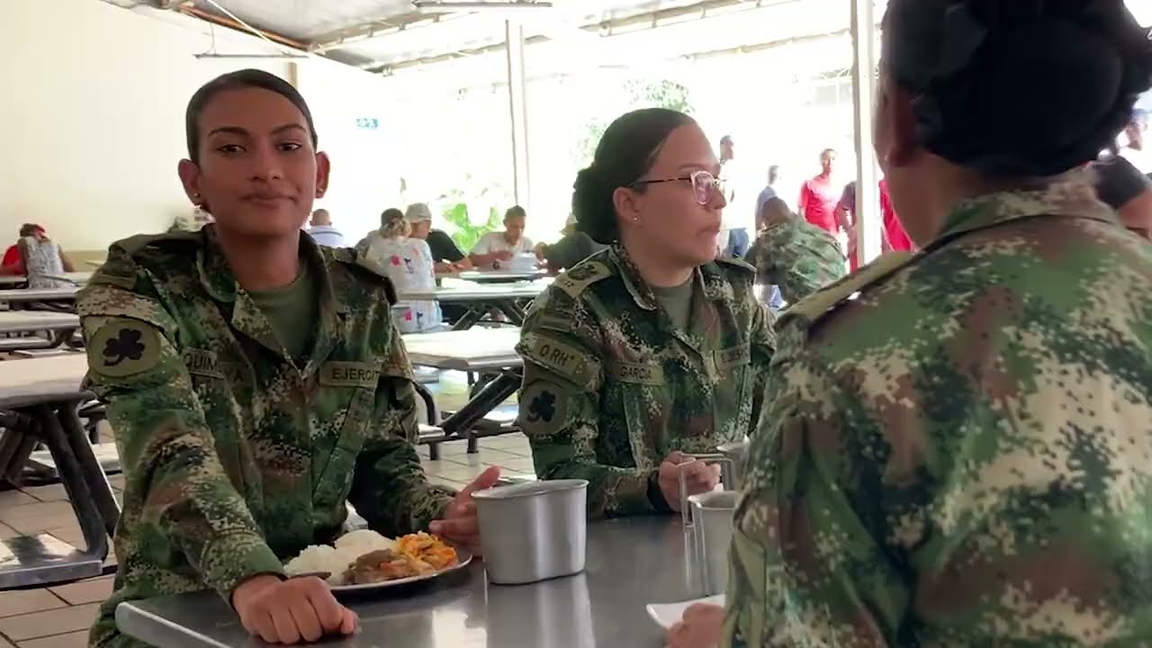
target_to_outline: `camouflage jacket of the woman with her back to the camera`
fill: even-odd
[[[1149,645],[1152,247],[1090,187],[968,201],[778,334],[725,646]]]

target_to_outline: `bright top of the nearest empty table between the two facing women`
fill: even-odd
[[[513,326],[410,333],[403,338],[412,364],[456,371],[511,369],[524,364],[516,353],[520,329]]]

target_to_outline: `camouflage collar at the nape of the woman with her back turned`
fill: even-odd
[[[996,191],[964,201],[953,208],[935,240],[1034,217],[1076,217],[1119,224],[1115,212],[1101,203],[1096,188],[1083,181],[1044,189]]]

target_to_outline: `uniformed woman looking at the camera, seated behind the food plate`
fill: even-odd
[[[115,590],[89,645],[143,647],[116,605],[197,590],[270,643],[350,634],[356,615],[318,578],[285,580],[283,562],[332,542],[347,502],[387,536],[477,549],[471,490],[420,468],[395,291],[355,250],[302,235],[328,160],[296,89],[226,74],[192,96],[185,128],[180,178],[217,223],[114,243],[77,297],[126,483]]]

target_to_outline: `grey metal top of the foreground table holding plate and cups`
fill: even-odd
[[[523,585],[488,585],[477,563],[441,582],[348,601],[361,632],[342,648],[660,648],[649,603],[700,596],[679,517],[589,526],[584,573]],[[214,593],[122,603],[126,634],[165,648],[265,646],[248,638]]]

